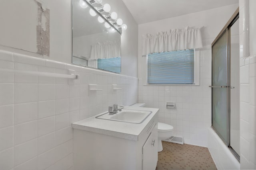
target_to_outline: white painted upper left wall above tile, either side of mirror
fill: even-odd
[[[36,25],[37,9],[36,1],[22,1],[22,7],[17,5],[18,0],[8,1],[7,6],[1,9],[1,23],[6,23],[6,18],[11,22],[4,24],[0,40],[0,49],[51,59],[63,63],[72,63],[72,1],[71,0],[38,0],[44,8],[50,9],[50,56],[42,56],[36,53]],[[6,1],[7,2],[7,1]],[[19,1],[20,2],[20,1]],[[113,7],[117,6],[118,16],[125,21],[128,29],[121,36],[122,73],[123,75],[138,75],[138,24],[120,0],[108,0]],[[11,5],[14,4],[14,5]],[[32,5],[31,5],[32,4]],[[3,6],[2,6],[3,7]],[[12,13],[8,12],[12,9]],[[25,20],[23,16],[34,16],[33,20]],[[22,14],[22,15],[21,15]],[[15,19],[15,20],[14,20]],[[8,21],[7,20],[7,21]],[[14,30],[13,30],[14,29]],[[24,30],[23,30],[24,29]],[[3,33],[4,32],[4,33]],[[15,33],[15,34],[14,34]],[[5,36],[2,36],[5,35]],[[6,36],[8,35],[8,36]],[[17,35],[15,37],[15,35]],[[14,36],[14,37],[10,37]],[[22,41],[21,41],[22,40]]]

